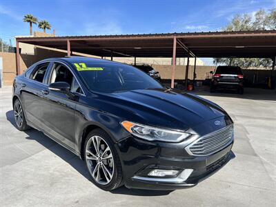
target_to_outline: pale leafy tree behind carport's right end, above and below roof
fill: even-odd
[[[255,14],[237,14],[228,25],[222,28],[223,31],[253,31],[253,30],[275,30],[276,29],[276,8],[266,12],[259,10]],[[273,61],[269,58],[215,58],[216,65],[225,64],[229,66],[249,67],[270,67]]]

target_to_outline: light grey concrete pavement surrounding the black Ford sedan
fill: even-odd
[[[236,158],[195,188],[105,192],[89,181],[77,156],[37,130],[19,132],[12,88],[0,88],[0,206],[275,206],[275,91],[195,93],[235,121]]]

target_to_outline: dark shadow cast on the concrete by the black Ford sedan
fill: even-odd
[[[9,110],[6,112],[6,119],[10,121],[10,124],[15,127],[14,121],[14,113],[13,110]],[[70,152],[63,146],[57,144],[57,142],[53,141],[39,130],[35,130],[31,128],[30,130],[24,131],[28,137],[28,140],[37,141],[39,144],[50,150],[51,152],[55,153],[55,155],[59,156],[61,159],[66,161],[70,166],[75,168],[83,177],[88,180],[91,180],[89,172],[86,170],[86,166],[77,155]],[[110,193],[113,194],[124,194],[124,195],[135,195],[135,196],[161,196],[161,195],[168,195],[172,190],[140,190],[140,189],[129,189],[125,186],[121,186],[115,190],[111,190]]]

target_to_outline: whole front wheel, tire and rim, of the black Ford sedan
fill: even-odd
[[[121,162],[110,136],[101,129],[92,130],[83,150],[92,183],[102,190],[119,188],[123,180]]]

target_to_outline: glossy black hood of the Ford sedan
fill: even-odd
[[[204,121],[227,116],[226,112],[211,101],[191,94],[168,90],[131,90],[116,92],[109,101],[131,113],[128,121],[140,124],[187,130]],[[123,112],[124,111],[124,112]]]

